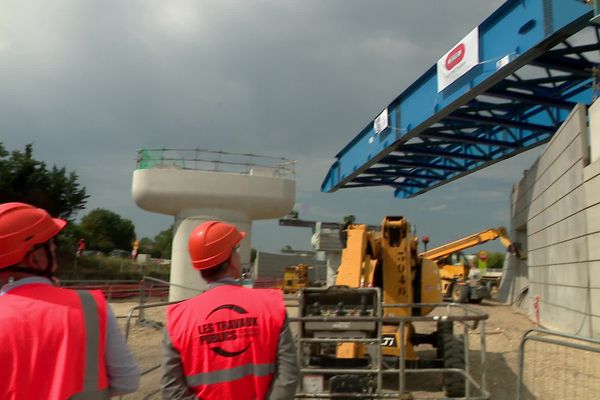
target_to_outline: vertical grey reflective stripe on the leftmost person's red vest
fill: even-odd
[[[88,291],[77,290],[81,299],[83,320],[85,323],[85,369],[83,371],[83,390],[71,400],[104,400],[108,399],[108,388],[98,389],[98,357],[100,357],[98,344],[99,318],[94,296]],[[103,356],[103,355],[102,355]]]

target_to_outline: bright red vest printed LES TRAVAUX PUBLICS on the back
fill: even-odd
[[[236,285],[170,306],[167,331],[190,390],[204,400],[264,399],[285,315],[281,291]]]

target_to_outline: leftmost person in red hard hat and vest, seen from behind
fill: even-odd
[[[0,398],[106,399],[140,370],[101,291],[55,286],[54,237],[67,221],[0,204]]]

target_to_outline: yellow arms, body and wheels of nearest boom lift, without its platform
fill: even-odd
[[[379,287],[383,305],[435,304],[442,301],[438,266],[419,255],[419,240],[404,217],[385,217],[380,231],[363,224],[350,224],[346,234],[336,285],[350,288]],[[393,317],[425,316],[432,310],[427,307],[392,306],[385,307],[384,314]],[[432,333],[417,333],[414,325],[407,323],[403,335],[400,335],[398,325],[384,325],[382,337],[382,353],[389,360],[397,362],[402,346],[407,365],[415,368],[432,365],[464,368],[463,343],[453,334],[451,323],[438,323],[438,329]],[[437,348],[437,358],[420,359],[415,351],[420,344],[431,344]],[[363,351],[356,343],[341,343],[337,347],[336,357],[359,358]],[[464,396],[464,379],[458,374],[446,374],[444,386],[448,396]]]

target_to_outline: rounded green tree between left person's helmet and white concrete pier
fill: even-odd
[[[103,208],[90,211],[81,219],[79,227],[89,248],[102,252],[129,250],[136,237],[135,227],[130,220]]]

